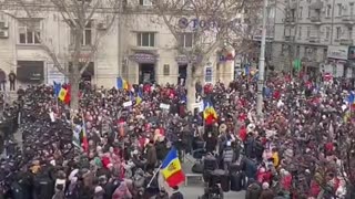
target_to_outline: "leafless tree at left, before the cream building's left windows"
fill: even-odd
[[[95,55],[100,42],[112,30],[121,11],[122,0],[4,0],[0,8],[8,15],[16,19],[26,18],[27,27],[34,32],[36,40],[41,49],[53,61],[54,66],[63,73],[71,85],[71,107],[79,108],[79,83],[81,74],[87,70]],[[36,30],[33,21],[45,18],[45,14],[58,14],[71,30],[72,44],[68,46],[67,54],[55,52],[51,44],[51,35],[42,35]],[[104,28],[97,27],[91,44],[83,46],[83,32],[88,24],[92,25],[94,19],[104,21]],[[85,56],[82,54],[85,53]],[[69,63],[63,64],[61,56],[68,56]],[[67,65],[68,64],[68,65]],[[69,67],[67,67],[69,66]]]

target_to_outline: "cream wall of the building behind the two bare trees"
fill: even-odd
[[[130,4],[134,3],[130,1]],[[136,2],[135,2],[136,3]],[[24,13],[17,12],[21,17]],[[95,35],[95,23],[101,20],[101,15],[93,17],[92,41]],[[49,69],[53,61],[39,44],[19,44],[18,21],[4,15],[0,21],[8,21],[9,38],[0,39],[0,67],[8,74],[11,70],[16,72],[18,61],[43,61],[44,81],[49,80]],[[120,24],[121,23],[121,24]],[[136,32],[155,32],[154,48],[140,48],[136,45]],[[41,19],[41,34],[45,44],[57,54],[63,66],[70,62],[70,29],[54,11],[43,12]],[[101,40],[97,54],[92,57],[94,62],[94,76],[92,83],[98,86],[112,87],[116,83],[116,77],[122,76],[130,83],[139,82],[139,64],[130,60],[130,55],[135,52],[150,52],[158,55],[155,63],[155,81],[158,83],[178,83],[179,64],[175,50],[176,41],[168,27],[156,14],[135,9],[120,15],[120,20],[114,22],[109,33]],[[226,63],[222,67],[216,67],[217,55],[210,57],[213,64],[213,81],[230,82],[233,80],[234,63]],[[164,74],[164,65],[169,65],[169,74]],[[220,74],[217,74],[220,73]],[[204,74],[200,74],[201,77]]]

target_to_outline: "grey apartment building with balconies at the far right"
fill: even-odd
[[[316,3],[320,4],[316,6]],[[354,3],[354,0],[287,0],[285,3],[276,3],[278,9],[276,9],[274,49],[290,43],[283,34],[284,29],[292,28],[296,30],[295,40],[292,43],[300,46],[300,59],[311,57],[311,62],[305,61],[303,65],[318,66],[321,63],[327,63],[328,59],[324,55],[324,49],[329,45],[352,46],[354,43],[354,23],[352,22],[355,19]],[[315,9],[315,7],[320,9]],[[295,18],[290,19],[293,19],[294,22],[287,21],[285,17],[285,13],[292,15],[292,10],[294,10]],[[316,21],[317,17],[320,20]],[[337,28],[342,30],[339,35],[337,35]],[[311,30],[310,35],[308,29]],[[307,49],[308,51],[306,51]],[[310,49],[314,49],[316,52]],[[277,70],[288,71],[290,64],[284,63],[284,57],[277,57],[277,51],[273,51],[273,64]]]

